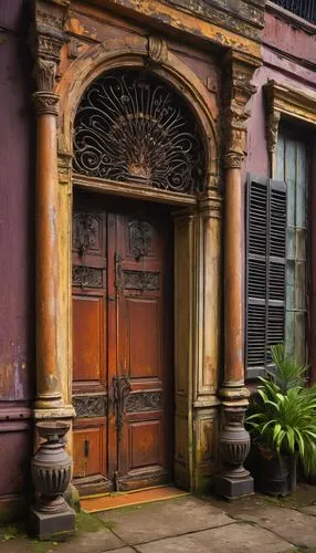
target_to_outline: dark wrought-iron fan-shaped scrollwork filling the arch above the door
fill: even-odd
[[[149,72],[113,71],[86,91],[75,117],[74,170],[196,195],[204,148],[192,112]]]

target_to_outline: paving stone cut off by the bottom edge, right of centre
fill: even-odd
[[[249,524],[230,524],[154,543],[137,545],[139,553],[287,553],[294,546],[272,532]]]

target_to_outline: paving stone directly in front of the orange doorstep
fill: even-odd
[[[130,545],[233,522],[220,509],[192,497],[105,511],[98,517],[115,522],[115,533]]]

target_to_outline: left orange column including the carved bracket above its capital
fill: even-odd
[[[34,416],[69,418],[64,405],[63,373],[66,363],[59,355],[59,175],[56,119],[59,96],[54,94],[60,53],[67,36],[63,32],[64,6],[36,0],[31,48],[35,60],[36,92],[36,398]],[[67,399],[67,398],[66,398]]]

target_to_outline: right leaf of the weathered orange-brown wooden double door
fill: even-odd
[[[112,293],[117,296],[117,351],[115,358],[110,357],[109,371],[116,405],[119,490],[171,480],[170,232],[168,217],[159,220],[148,208],[146,215],[109,216],[109,244],[116,244],[115,252],[108,250],[109,259],[114,259],[109,274],[114,274]]]

